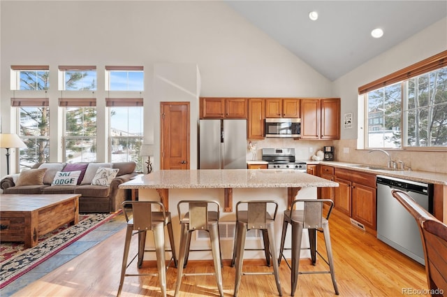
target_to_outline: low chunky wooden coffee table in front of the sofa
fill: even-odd
[[[0,195],[0,240],[34,247],[38,237],[64,224],[78,224],[80,194]]]

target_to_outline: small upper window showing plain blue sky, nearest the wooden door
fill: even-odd
[[[143,91],[142,66],[105,66],[107,91]]]

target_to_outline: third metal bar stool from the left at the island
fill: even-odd
[[[241,205],[246,205],[247,210],[241,210]],[[268,212],[268,205],[274,205],[273,217]],[[279,271],[277,259],[277,249],[274,242],[274,219],[277,216],[278,203],[276,201],[239,201],[236,203],[236,238],[235,238],[235,291],[237,297],[240,287],[240,278],[242,275],[274,275],[277,282],[279,296],[282,296],[281,283],[279,282]],[[268,257],[272,254],[273,272],[271,273],[248,273],[242,272],[242,263],[244,257],[245,238],[247,231],[258,229],[263,231],[263,236],[268,245],[265,245]],[[265,231],[265,233],[264,233]],[[270,249],[270,253],[269,253]]]

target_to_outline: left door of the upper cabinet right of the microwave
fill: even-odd
[[[320,138],[320,99],[301,99],[301,138]]]

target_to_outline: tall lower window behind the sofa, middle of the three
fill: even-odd
[[[96,99],[59,99],[65,107],[64,161],[96,161]]]

